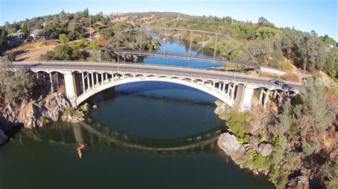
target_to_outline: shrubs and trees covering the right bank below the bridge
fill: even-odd
[[[338,102],[332,88],[324,87],[319,77],[309,77],[299,95],[287,99],[278,112],[264,112],[272,114],[272,120],[261,121],[262,126],[252,126],[253,117],[261,119],[255,112],[232,108],[226,114],[227,127],[243,146],[249,146],[246,150],[252,160],[244,164],[268,170],[279,188],[295,186],[292,180],[299,177],[314,188],[338,184]],[[252,142],[255,138],[258,141]],[[264,156],[262,144],[272,145],[273,152]]]

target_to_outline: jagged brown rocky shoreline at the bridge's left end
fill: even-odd
[[[68,99],[60,92],[36,100],[16,100],[0,106],[0,145],[9,137],[6,132],[16,127],[35,129],[55,121],[78,122],[86,119],[88,104],[73,109]]]

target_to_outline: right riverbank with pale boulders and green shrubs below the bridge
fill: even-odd
[[[250,170],[255,175],[266,175],[274,183],[272,177],[276,175],[273,169],[278,169],[284,162],[275,163],[276,154],[282,153],[278,148],[281,139],[277,135],[271,136],[267,131],[267,127],[273,123],[272,113],[262,112],[259,107],[253,107],[250,113],[234,113],[232,108],[219,100],[215,104],[215,114],[225,120],[225,125],[229,127],[220,134],[217,145],[237,166]],[[287,185],[292,188],[309,188],[309,178],[306,175],[296,175],[287,180]]]

